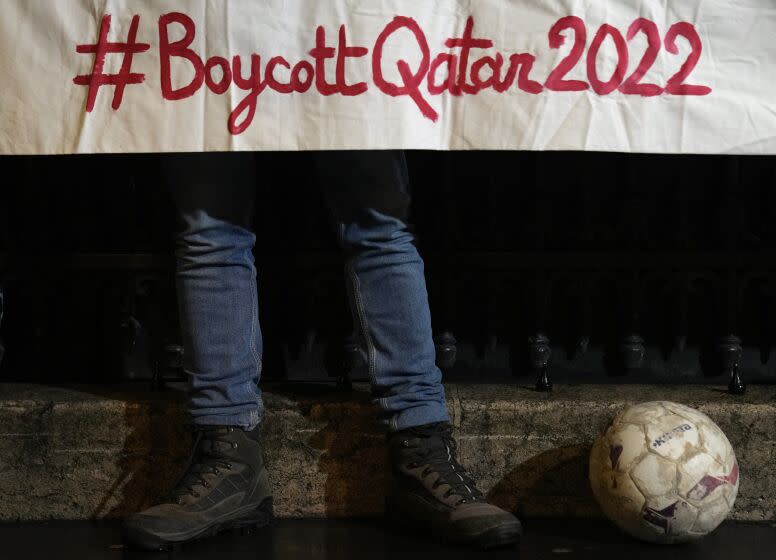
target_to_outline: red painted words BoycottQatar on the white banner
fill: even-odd
[[[169,28],[173,25],[182,26],[184,37],[178,41],[170,41]],[[386,43],[398,32],[406,30],[414,37],[420,54],[417,69],[412,69],[403,59],[384,60]],[[324,96],[343,95],[355,97],[369,90],[369,84],[346,82],[348,59],[366,57],[369,49],[360,46],[349,46],[347,31],[344,25],[339,29],[337,47],[327,44],[326,31],[321,26],[316,29],[315,47],[307,53],[310,59],[298,61],[293,66],[282,56],[269,58],[262,68],[262,57],[259,54],[250,56],[250,72],[244,75],[248,66],[239,55],[231,61],[222,56],[212,56],[207,60],[190,47],[197,34],[195,22],[186,14],[173,12],[159,19],[159,49],[161,66],[162,96],[169,101],[177,101],[195,95],[203,86],[217,94],[226,93],[232,85],[247,91],[246,97],[234,107],[229,118],[229,131],[238,135],[244,132],[253,122],[261,94],[268,88],[282,95],[306,93],[315,84],[317,92]],[[424,117],[436,122],[439,114],[429,104],[427,96],[450,93],[455,96],[476,95],[486,89],[499,93],[509,90],[517,81],[519,89],[538,94],[543,90],[542,84],[530,78],[535,57],[530,54],[513,54],[507,60],[503,55],[483,56],[472,62],[474,49],[490,49],[493,41],[474,38],[474,18],[469,17],[461,37],[449,38],[444,45],[455,52],[444,52],[433,57],[428,39],[420,25],[412,18],[395,17],[378,36],[372,48],[371,72],[374,85],[382,93],[391,97],[410,97]],[[194,78],[181,88],[175,89],[172,75],[172,59],[180,58],[188,61],[194,70]],[[327,75],[326,62],[334,59],[336,67],[334,79]],[[388,64],[395,65],[401,79],[394,83],[386,79],[385,68]],[[505,70],[506,66],[506,70]],[[281,81],[276,73],[278,67],[284,68],[288,74]],[[443,73],[442,70],[445,70]],[[444,74],[444,75],[443,75]],[[244,116],[243,116],[244,115]]]

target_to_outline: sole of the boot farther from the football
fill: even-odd
[[[235,519],[216,521],[191,534],[160,535],[135,529],[124,528],[124,538],[136,548],[149,551],[173,551],[185,544],[215,537],[225,531],[237,534],[250,534],[272,523],[274,519],[272,498],[267,498],[247,515]]]

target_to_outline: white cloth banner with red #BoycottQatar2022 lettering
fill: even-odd
[[[776,153],[774,0],[0,0],[0,153]]]

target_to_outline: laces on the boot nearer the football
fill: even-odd
[[[469,502],[485,501],[485,496],[477,488],[477,483],[458,462],[458,446],[449,428],[434,427],[431,429],[431,434],[427,437],[439,438],[442,445],[419,445],[413,448],[410,447],[408,439],[402,442],[402,446],[409,452],[406,455],[409,459],[406,466],[410,469],[415,469],[420,465],[425,465],[421,472],[422,478],[426,478],[432,473],[437,473],[438,477],[433,484],[433,488],[436,489],[439,486],[448,485],[449,488],[443,496],[445,498],[450,496],[460,497],[456,502],[456,506]]]

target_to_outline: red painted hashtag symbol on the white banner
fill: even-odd
[[[85,76],[76,76],[73,83],[79,86],[89,86],[89,98],[86,101],[86,112],[91,113],[94,103],[97,101],[97,93],[102,86],[115,86],[113,93],[113,110],[118,111],[121,101],[124,99],[124,90],[130,84],[142,84],[145,74],[132,73],[132,60],[137,53],[146,52],[151,45],[137,43],[137,28],[140,25],[140,16],[132,18],[129,35],[126,43],[111,43],[108,41],[110,33],[111,16],[102,18],[100,26],[100,40],[96,45],[78,45],[76,52],[80,54],[94,54],[94,66],[92,73]],[[121,70],[118,74],[105,74],[105,57],[109,53],[123,54]]]

